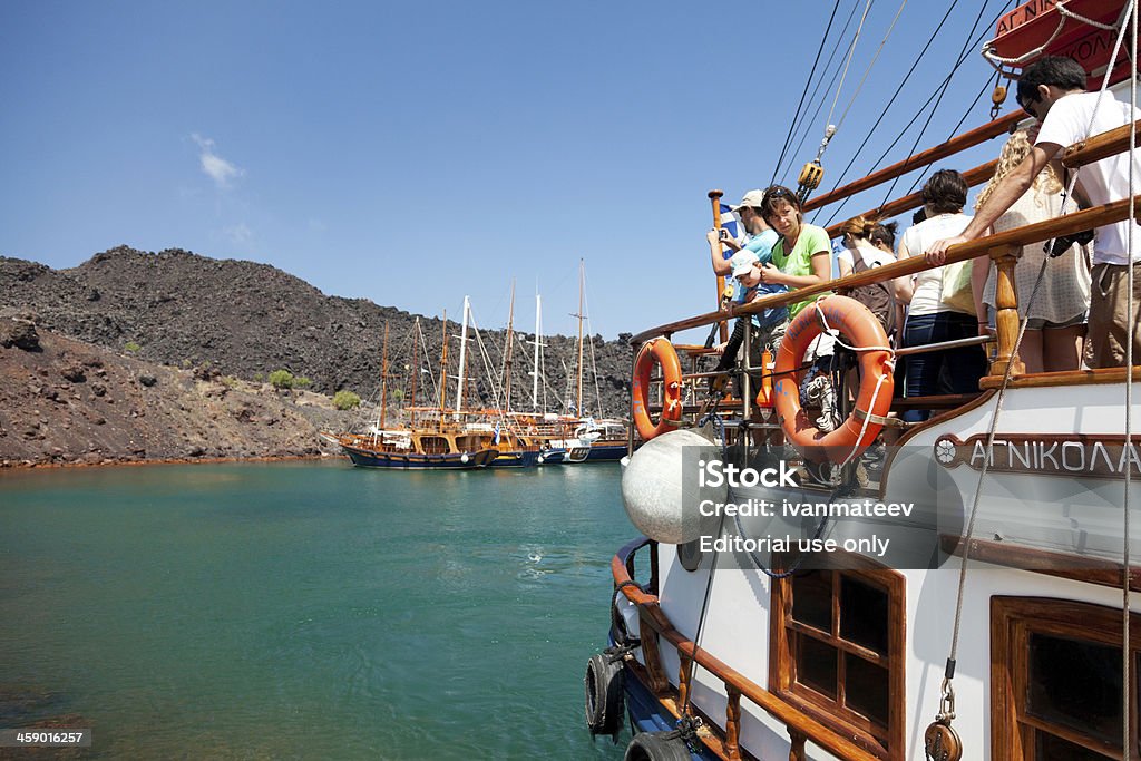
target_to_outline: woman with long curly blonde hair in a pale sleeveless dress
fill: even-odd
[[[1026,130],[1010,136],[998,155],[994,178],[974,202],[976,209],[986,203],[1003,177],[1030,153],[1030,147],[1031,141]],[[995,220],[993,232],[1001,233],[1060,217],[1063,189],[1061,180],[1047,165],[1034,179],[1030,189]],[[1066,211],[1074,210],[1073,202],[1067,202]],[[1046,272],[1034,302],[1030,303],[1034,283],[1043,261],[1046,261]],[[995,280],[994,262],[985,258],[976,259],[971,286],[980,333],[994,324]],[[1051,259],[1046,257],[1041,243],[1023,246],[1014,267],[1014,290],[1018,293],[1019,318],[1026,318],[1029,314],[1029,324],[1019,349],[1026,372],[1077,370],[1081,366],[1082,341],[1090,313],[1090,265],[1085,249],[1075,244],[1060,257]]]

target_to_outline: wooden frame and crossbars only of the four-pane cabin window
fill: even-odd
[[[822,569],[832,575],[832,631],[822,631],[792,620],[792,580],[772,581],[772,608],[769,641],[769,690],[780,699],[802,711],[833,731],[852,738],[869,753],[884,761],[903,761],[906,730],[906,578],[903,574],[852,556],[845,560],[853,568]],[[869,586],[884,590],[888,596],[888,655],[881,657],[840,637],[840,584],[836,576],[847,576]],[[817,693],[796,681],[795,653],[788,632],[817,639],[840,653],[850,653],[888,670],[888,724],[880,727],[867,717],[843,704],[844,666],[837,658],[836,699]]]

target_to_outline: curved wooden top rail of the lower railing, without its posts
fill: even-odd
[[[617,554],[610,560],[610,573],[614,576],[615,584],[632,581],[628,572],[628,562],[632,559],[637,550],[648,543],[649,540],[641,537],[618,550]],[[622,588],[622,593],[625,594],[628,600],[638,606],[638,614],[641,621],[648,623],[655,632],[667,639],[677,648],[679,657],[693,657],[698,665],[720,679],[725,683],[727,691],[735,690],[743,697],[752,701],[761,710],[784,724],[790,730],[790,734],[803,734],[815,745],[848,761],[880,761],[867,748],[860,747],[847,737],[806,717],[772,693],[746,679],[741,672],[694,645],[691,640],[674,629],[670,620],[662,613],[657,597],[647,594],[630,584]],[[645,645],[645,637],[642,638],[642,642]],[[654,649],[653,646],[650,649]],[[649,671],[654,670],[648,664],[647,669]]]

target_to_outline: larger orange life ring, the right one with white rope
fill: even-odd
[[[800,406],[800,365],[809,343],[824,332],[822,313],[827,326],[837,329],[857,349],[887,347],[888,337],[880,321],[863,303],[843,296],[830,296],[796,315],[777,350],[774,369],[776,410],[785,436],[809,460],[844,462],[866,450],[883,428],[895,390],[895,363],[892,353],[885,349],[860,351],[856,408],[834,431],[822,431]]]

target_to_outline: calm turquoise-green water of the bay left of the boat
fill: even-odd
[[[0,727],[65,717],[94,758],[620,759],[582,675],[634,535],[614,465],[5,472]]]

